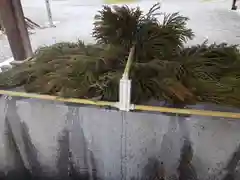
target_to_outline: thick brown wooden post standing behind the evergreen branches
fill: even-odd
[[[20,0],[0,0],[0,17],[14,60],[32,56],[32,48]]]

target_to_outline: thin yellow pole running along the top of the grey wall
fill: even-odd
[[[76,98],[61,98],[58,96],[40,95],[40,94],[5,91],[5,90],[0,90],[0,94],[14,96],[14,97],[35,98],[35,99],[42,99],[42,100],[49,100],[49,101],[116,107],[116,102],[94,101],[94,100],[76,99]],[[141,110],[141,111],[151,111],[151,112],[164,112],[164,113],[189,114],[189,115],[199,115],[199,116],[240,119],[240,113],[231,113],[231,112],[205,111],[205,110],[196,110],[196,109],[177,109],[177,108],[144,106],[144,105],[135,105],[134,109]]]

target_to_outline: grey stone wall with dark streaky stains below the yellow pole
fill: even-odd
[[[0,179],[14,170],[38,179],[153,179],[160,162],[166,176],[176,179],[186,141],[198,178],[222,179],[240,142],[240,121],[233,119],[6,96],[0,111]]]

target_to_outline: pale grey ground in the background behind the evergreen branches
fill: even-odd
[[[53,44],[59,41],[94,42],[91,37],[93,18],[101,9],[102,0],[52,0],[53,20],[58,22],[56,28],[38,29],[30,35],[32,47]],[[147,11],[154,0],[142,0],[131,6],[140,6]],[[188,26],[193,29],[196,37],[189,45],[209,42],[227,42],[240,44],[240,13],[231,11],[232,0],[163,0],[162,11],[167,13],[179,11],[188,16]],[[44,1],[22,0],[25,16],[39,25],[48,22]],[[7,38],[0,35],[0,63],[11,57]]]

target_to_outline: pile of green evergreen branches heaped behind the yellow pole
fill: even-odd
[[[240,107],[237,46],[204,42],[185,47],[194,38],[188,18],[159,9],[156,4],[144,14],[140,8],[104,6],[95,17],[96,44],[42,47],[31,61],[1,73],[0,88],[24,85],[27,92],[117,101],[134,47],[132,103],[155,99],[176,106],[206,102]]]

